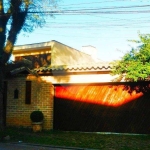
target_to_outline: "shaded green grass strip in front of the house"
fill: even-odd
[[[92,149],[149,150],[150,135],[97,134],[82,132],[42,131],[33,133],[31,129],[7,128],[0,136],[9,135],[9,142],[44,144],[53,146],[80,147]]]

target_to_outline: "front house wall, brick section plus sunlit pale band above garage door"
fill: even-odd
[[[99,78],[98,78],[99,77]],[[102,82],[102,76],[60,75],[39,76],[19,75],[7,80],[7,126],[31,127],[30,113],[40,109],[44,113],[44,129],[53,129],[54,86],[61,83]],[[105,76],[107,77],[107,75]],[[92,79],[92,80],[89,80]],[[26,81],[31,81],[31,104],[25,104]],[[18,98],[14,91],[18,90]]]

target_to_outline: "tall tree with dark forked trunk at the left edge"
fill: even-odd
[[[0,0],[0,128],[3,126],[3,79],[8,60],[20,31],[32,32],[45,23],[46,8],[54,8],[58,0]],[[46,6],[46,7],[45,7]],[[50,14],[52,15],[52,14]]]

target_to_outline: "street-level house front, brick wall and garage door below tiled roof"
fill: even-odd
[[[90,126],[89,115],[91,115],[95,119],[93,125],[99,123],[99,129],[94,131],[150,133],[150,122],[147,121],[150,115],[149,94],[144,96],[141,92],[135,92],[135,87],[143,89],[145,86],[133,84],[134,86],[131,86],[133,91],[130,93],[130,88],[124,88],[125,83],[102,83],[104,76],[93,75],[90,78],[90,75],[39,77],[28,75],[8,80],[7,126],[31,127],[30,113],[40,109],[45,116],[44,129],[53,129],[54,125],[54,129],[63,130],[65,127],[66,130],[73,130],[70,128],[77,125],[75,130],[79,131],[78,127],[83,126],[77,123],[82,121],[82,125],[88,126],[86,121],[89,120]],[[26,81],[31,81],[31,104],[25,104]],[[76,84],[79,81],[81,83]],[[55,102],[53,84],[55,85]],[[16,88],[19,91],[18,99],[14,99]],[[76,119],[78,121],[73,122]],[[141,123],[140,120],[143,122]],[[126,128],[126,124],[129,128]],[[84,131],[93,131],[93,129],[87,128]]]

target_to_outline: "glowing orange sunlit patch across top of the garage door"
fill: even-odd
[[[55,97],[98,105],[118,107],[143,95],[125,90],[124,85],[84,85],[84,86],[57,86]]]

